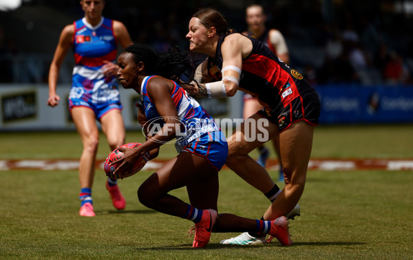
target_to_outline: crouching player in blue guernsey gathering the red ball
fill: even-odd
[[[236,231],[274,235],[289,245],[285,217],[264,221],[220,214],[218,218],[218,171],[225,163],[228,145],[213,118],[177,83],[182,83],[178,76],[191,68],[188,56],[181,52],[158,56],[145,45],[131,45],[120,54],[118,67],[120,84],[141,96],[138,118],[147,140],[134,149],[119,148],[125,156],[116,162],[122,163],[115,172],[129,171],[147,152],[150,159],[155,158],[162,144],[177,139],[178,155],[140,185],[140,202],[160,213],[193,221],[195,248],[206,246],[211,232]],[[169,194],[183,186],[190,204]]]

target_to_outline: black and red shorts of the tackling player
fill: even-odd
[[[297,96],[287,107],[284,107],[279,112],[264,108],[258,111],[258,113],[277,124],[279,133],[288,129],[294,122],[302,120],[308,124],[317,125],[319,124],[320,116],[320,99],[317,92],[313,90],[302,96]]]

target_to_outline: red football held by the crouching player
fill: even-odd
[[[140,146],[140,143],[138,142],[129,142],[129,144],[123,144],[120,147],[135,148],[138,146]],[[123,158],[123,152],[119,151],[119,149],[117,148],[114,149],[112,153],[109,153],[109,155],[107,156],[105,160],[105,165],[103,166],[103,169],[105,169],[105,173],[107,177],[110,177],[112,179],[120,179],[119,173],[118,172],[114,173],[114,171],[118,167],[118,164],[109,165],[112,162],[116,162],[120,158]],[[123,177],[124,178],[129,177],[131,175],[134,175],[138,171],[140,171],[143,168],[143,166],[145,166],[148,160],[149,160],[149,154],[145,153],[145,155],[141,156],[138,160],[136,160],[133,170],[131,172],[123,173]]]

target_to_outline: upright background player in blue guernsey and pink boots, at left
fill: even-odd
[[[123,48],[132,44],[129,32],[120,21],[102,16],[105,0],[81,0],[85,17],[65,26],[49,71],[49,99],[47,105],[59,105],[56,94],[59,70],[67,51],[72,47],[76,65],[73,69],[69,108],[74,124],[83,142],[79,165],[81,184],[81,209],[79,215],[95,215],[92,202],[92,186],[95,173],[99,120],[111,151],[125,143],[125,127],[119,90],[114,77],[114,64],[118,44]],[[116,180],[108,179],[106,188],[111,194],[115,208],[125,208],[125,198],[120,193]]]

